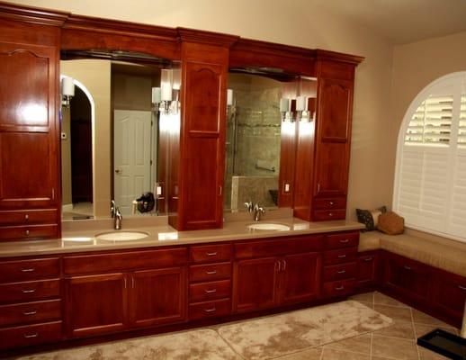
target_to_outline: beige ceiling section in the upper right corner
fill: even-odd
[[[466,31],[466,0],[314,0],[394,44]],[[465,44],[466,45],[466,44]]]

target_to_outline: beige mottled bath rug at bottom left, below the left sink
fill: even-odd
[[[240,360],[211,329],[78,347],[22,360]]]

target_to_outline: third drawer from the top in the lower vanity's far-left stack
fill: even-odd
[[[61,302],[26,302],[0,306],[0,327],[61,318]]]

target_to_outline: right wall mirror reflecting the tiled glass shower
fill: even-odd
[[[245,202],[282,207],[280,193],[291,191],[293,179],[279,183],[281,157],[294,158],[296,124],[315,119],[317,81],[280,69],[236,68],[228,87],[224,210],[246,211]]]

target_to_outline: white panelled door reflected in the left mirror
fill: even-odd
[[[131,202],[151,191],[151,112],[115,110],[113,113],[113,193],[122,214]]]

